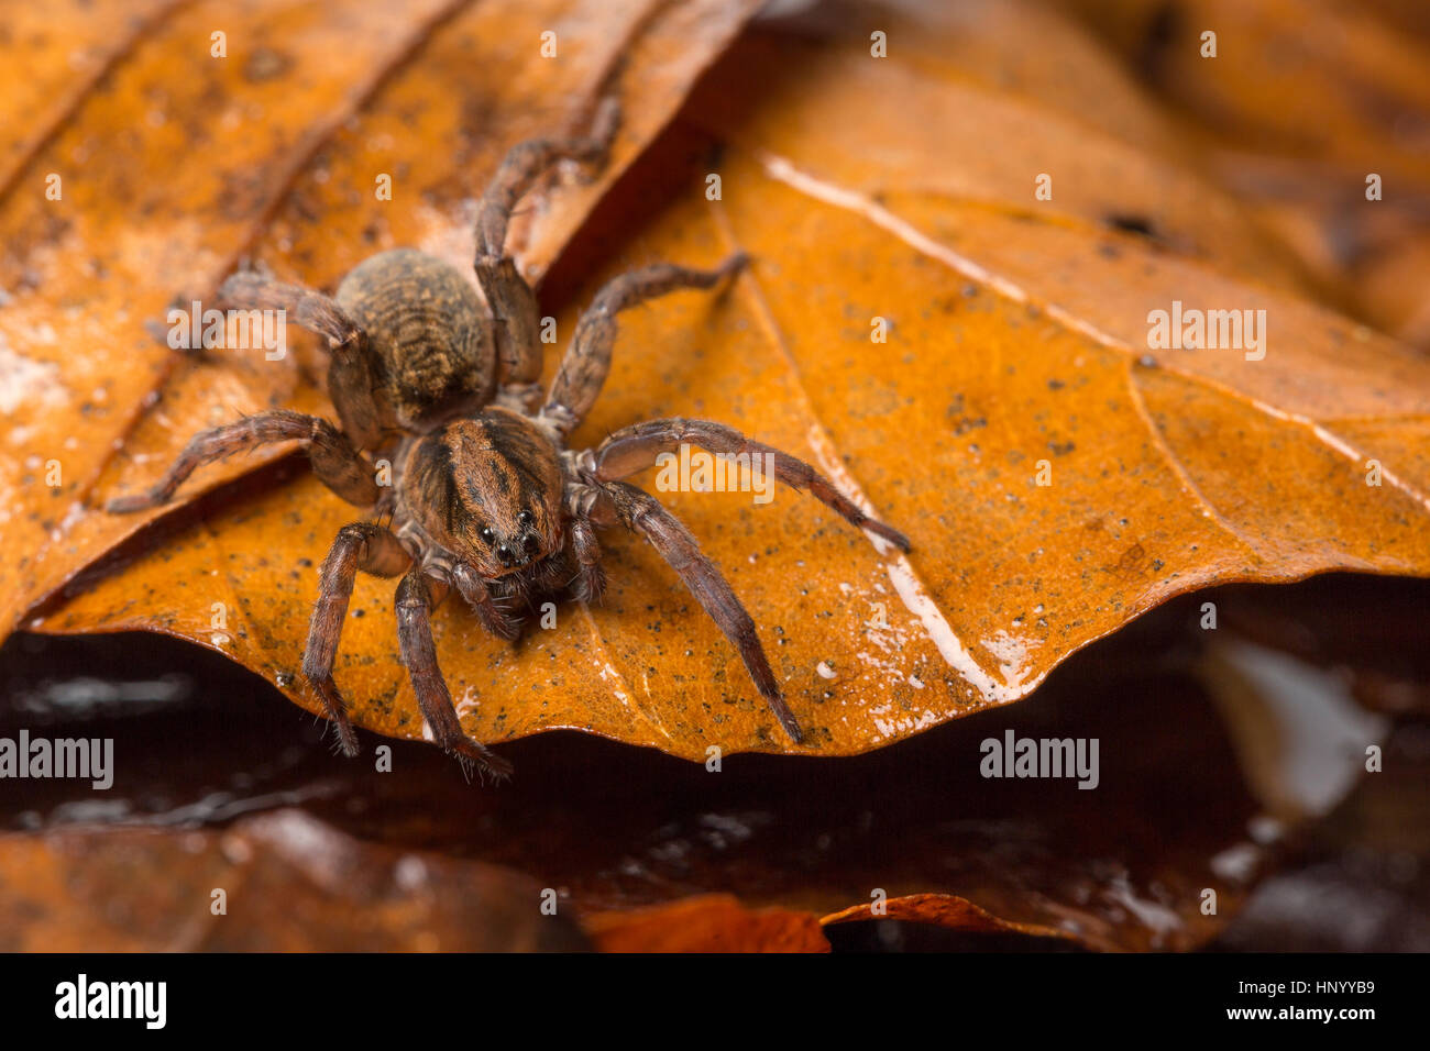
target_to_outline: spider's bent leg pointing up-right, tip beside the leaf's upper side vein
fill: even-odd
[[[576,335],[561,362],[551,395],[541,415],[563,433],[571,433],[595,405],[611,372],[611,349],[616,339],[616,313],[628,306],[664,296],[676,289],[708,289],[745,266],[739,252],[712,270],[692,270],[674,263],[655,263],[612,277],[591,300],[576,323]]]

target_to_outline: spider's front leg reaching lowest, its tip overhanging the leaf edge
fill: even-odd
[[[452,695],[438,666],[438,652],[432,643],[432,611],[446,598],[448,588],[445,579],[420,568],[412,569],[402,578],[396,601],[402,663],[408,668],[412,689],[418,695],[418,706],[436,744],[500,781],[512,775],[512,765],[462,732],[456,708],[452,706]]]

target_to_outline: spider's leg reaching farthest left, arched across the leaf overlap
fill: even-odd
[[[322,416],[306,416],[289,409],[270,409],[246,416],[237,423],[200,430],[179,453],[149,492],[119,496],[106,505],[112,515],[124,515],[167,503],[174,490],[183,485],[196,469],[204,463],[222,460],[237,452],[247,452],[260,445],[297,439],[307,446],[307,458],[313,463],[317,480],[359,508],[370,508],[378,502],[379,489],[372,466],[353,449],[347,436]]]

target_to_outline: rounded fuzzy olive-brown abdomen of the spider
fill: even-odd
[[[425,433],[490,400],[496,349],[486,307],[450,263],[415,249],[382,252],[335,297],[368,335],[385,426]]]

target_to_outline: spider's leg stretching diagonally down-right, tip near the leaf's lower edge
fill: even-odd
[[[759,635],[755,633],[755,622],[735,598],[729,582],[715,563],[701,552],[689,529],[681,525],[681,520],[659,500],[628,482],[605,482],[601,488],[611,498],[619,520],[628,529],[645,536],[651,546],[661,552],[711,619],[725,632],[725,638],[739,651],[749,678],[755,681],[755,688],[769,704],[779,725],[795,744],[802,742],[804,731],[785,704],[779,684],[775,682],[775,673],[759,645]]]

